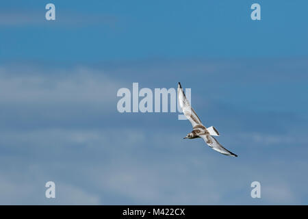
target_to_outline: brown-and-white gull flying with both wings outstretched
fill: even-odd
[[[177,96],[179,98],[179,105],[181,106],[183,114],[186,116],[186,118],[188,118],[188,120],[190,120],[190,123],[192,123],[192,132],[188,133],[188,135],[185,138],[189,138],[189,139],[203,138],[205,143],[207,143],[207,145],[209,145],[211,149],[214,149],[215,151],[218,151],[219,153],[222,153],[223,155],[228,155],[231,157],[238,157],[238,155],[235,155],[231,151],[228,151],[227,149],[225,149],[213,137],[213,136],[219,136],[217,129],[215,129],[212,126],[205,128],[205,126],[201,123],[200,118],[198,117],[196,112],[194,112],[194,109],[192,109],[192,107],[190,106],[190,102],[188,101],[188,99],[186,99],[181,83],[179,83],[177,87]]]

